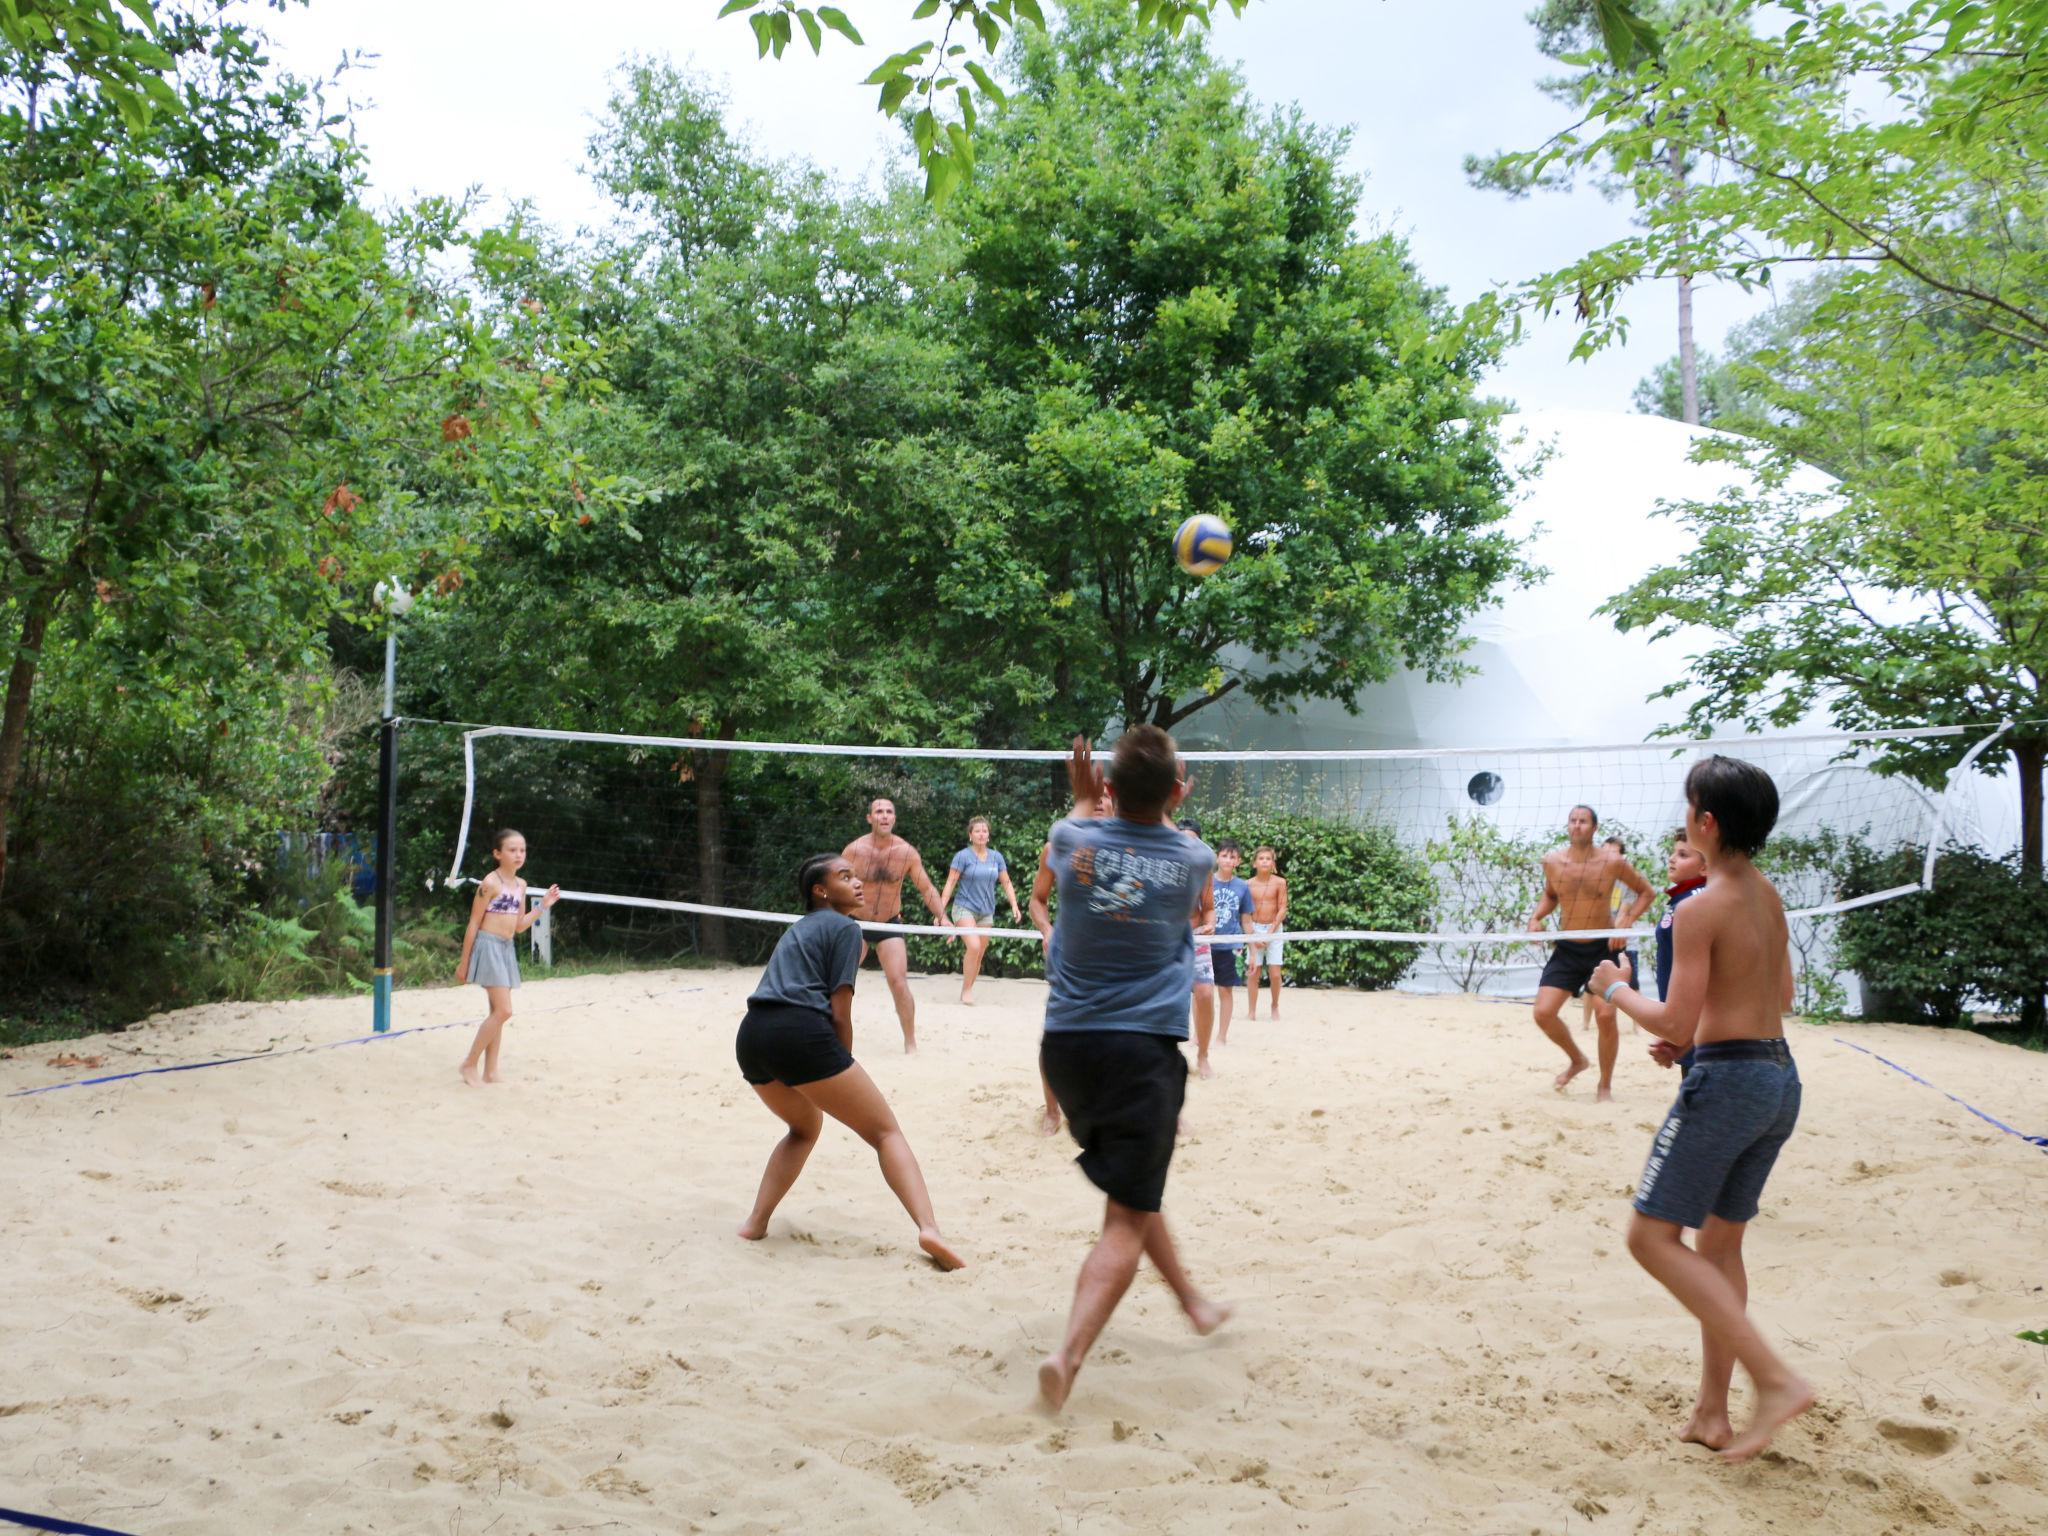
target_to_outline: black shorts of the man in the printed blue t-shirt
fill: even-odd
[[[1180,1040],[1137,1030],[1051,1030],[1038,1044],[1038,1065],[1081,1143],[1075,1161],[1090,1184],[1120,1206],[1157,1210],[1188,1098]]]

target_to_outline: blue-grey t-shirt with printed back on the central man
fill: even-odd
[[[1174,827],[1122,817],[1053,827],[1059,915],[1047,956],[1047,1030],[1188,1038],[1194,930],[1217,856]]]

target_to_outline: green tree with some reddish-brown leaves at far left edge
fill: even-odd
[[[0,883],[49,655],[254,729],[240,674],[315,672],[371,582],[457,569],[575,475],[537,428],[575,356],[440,274],[516,238],[453,205],[381,223],[254,33],[178,12],[158,37],[180,111],[141,131],[98,90],[0,86]]]

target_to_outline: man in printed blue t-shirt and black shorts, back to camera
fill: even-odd
[[[1196,1333],[1212,1333],[1231,1315],[1188,1280],[1159,1214],[1188,1094],[1180,1042],[1194,985],[1190,918],[1214,870],[1208,848],[1165,821],[1186,793],[1176,764],[1174,737],[1157,725],[1124,731],[1106,786],[1114,815],[1069,817],[1047,846],[1059,918],[1038,1065],[1081,1143],[1081,1171],[1108,1196],[1067,1335],[1038,1366],[1038,1391],[1053,1409],[1073,1391],[1141,1255],[1165,1276]],[[1067,768],[1075,805],[1096,805],[1104,782],[1087,741],[1075,737]]]

